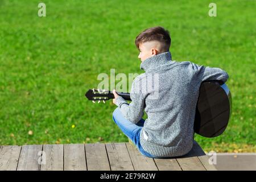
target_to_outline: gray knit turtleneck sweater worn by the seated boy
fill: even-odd
[[[147,119],[140,134],[142,148],[158,157],[181,156],[193,146],[193,123],[202,81],[228,80],[220,68],[204,67],[190,61],[171,60],[171,52],[142,61],[145,71],[131,86],[131,102],[118,97],[116,105],[132,123]]]

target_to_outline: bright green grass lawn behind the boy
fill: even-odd
[[[41,1],[40,1],[41,2]],[[196,136],[205,151],[256,151],[255,1],[0,0],[0,144],[127,142],[112,102],[84,97],[99,73],[142,73],[135,37],[163,26],[172,57],[229,73],[232,118],[217,138]],[[72,128],[72,125],[75,125]],[[28,131],[32,135],[28,135]]]

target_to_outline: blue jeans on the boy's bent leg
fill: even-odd
[[[157,158],[156,156],[148,154],[148,152],[144,151],[141,143],[139,142],[139,134],[141,133],[141,129],[144,125],[144,119],[141,119],[138,123],[134,124],[123,117],[121,110],[117,107],[117,109],[115,109],[113,112],[113,120],[123,131],[123,133],[133,141],[142,155],[149,158]]]

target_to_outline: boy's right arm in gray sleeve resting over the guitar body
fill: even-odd
[[[228,73],[220,68],[204,67],[195,63],[191,64],[193,69],[199,72],[201,81],[219,80],[225,83],[229,78]]]

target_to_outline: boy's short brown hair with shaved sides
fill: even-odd
[[[136,37],[135,45],[139,49],[139,44],[153,40],[156,40],[161,44],[161,48],[158,51],[161,53],[169,51],[171,46],[170,32],[163,27],[147,28]]]

